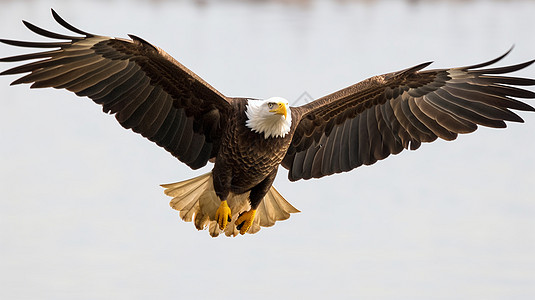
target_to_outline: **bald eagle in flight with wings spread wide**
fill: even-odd
[[[162,49],[82,31],[52,10],[75,36],[23,21],[57,41],[2,43],[46,48],[2,58],[32,62],[1,75],[26,74],[12,84],[67,89],[87,96],[127,129],[165,148],[192,169],[211,172],[162,185],[185,221],[210,235],[255,233],[298,212],[272,186],[279,165],[291,181],[371,165],[437,138],[454,140],[477,125],[523,122],[511,109],[535,109],[515,98],[535,93],[534,79],[504,76],[534,61],[486,68],[505,57],[467,67],[422,71],[430,63],[374,76],[308,104],[226,97]]]

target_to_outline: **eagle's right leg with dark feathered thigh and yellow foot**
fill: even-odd
[[[241,213],[235,222],[236,229],[240,231],[240,234],[245,234],[249,228],[251,228],[251,225],[253,225],[256,209],[271,188],[271,185],[275,180],[275,176],[277,176],[277,168],[275,168],[275,170],[273,170],[264,180],[262,180],[262,182],[251,189],[251,193],[249,194],[249,203],[251,204],[251,209]]]

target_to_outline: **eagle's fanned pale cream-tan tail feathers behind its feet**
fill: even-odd
[[[222,231],[215,221],[215,212],[219,207],[220,200],[215,194],[212,181],[212,172],[201,176],[170,184],[162,184],[164,193],[173,197],[169,203],[173,209],[179,211],[179,216],[186,222],[193,221],[198,230],[208,228],[212,237],[217,237]],[[239,230],[234,222],[238,216],[251,207],[249,205],[249,193],[240,195],[230,194],[227,200],[232,211],[232,220],[224,230],[226,236],[236,236]],[[257,233],[260,227],[270,227],[275,222],[286,220],[291,213],[300,212],[293,207],[272,186],[257,209],[253,225],[248,233]]]

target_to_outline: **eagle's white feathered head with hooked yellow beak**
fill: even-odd
[[[267,100],[248,100],[245,125],[264,138],[284,137],[292,126],[292,112],[288,101],[281,97]]]

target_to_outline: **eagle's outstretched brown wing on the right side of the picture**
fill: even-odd
[[[503,128],[504,121],[523,122],[510,109],[535,109],[511,97],[535,98],[535,93],[514,86],[535,85],[535,80],[503,74],[533,61],[481,69],[509,51],[461,68],[420,71],[430,64],[424,63],[292,108],[303,117],[282,163],[289,179],[319,178],[371,165],[437,137],[454,140],[477,125]]]

